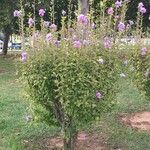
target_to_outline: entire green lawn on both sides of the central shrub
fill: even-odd
[[[58,132],[42,123],[26,121],[27,105],[21,95],[21,86],[15,75],[12,59],[0,57],[0,150],[23,150],[24,141],[32,139],[30,150],[43,150],[37,139],[52,136]],[[102,117],[95,126],[96,132],[107,135],[109,150],[150,150],[150,132],[136,131],[119,122],[118,114],[150,110],[150,103],[142,97],[129,80],[119,81],[120,91],[117,105],[111,113]]]

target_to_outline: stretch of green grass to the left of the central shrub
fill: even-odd
[[[22,150],[24,139],[55,134],[55,128],[26,121],[27,105],[16,80],[14,61],[0,58],[0,70],[3,70],[0,74],[0,150]]]

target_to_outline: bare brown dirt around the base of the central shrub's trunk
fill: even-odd
[[[29,150],[30,145],[34,145],[34,142],[24,140],[25,149]],[[35,143],[36,148],[39,150],[63,150],[63,140],[60,137],[42,138]],[[107,150],[105,137],[100,133],[82,132],[78,134],[75,145],[75,150]]]

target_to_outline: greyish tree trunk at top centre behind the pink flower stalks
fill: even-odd
[[[80,0],[81,14],[87,15],[89,11],[89,0]]]

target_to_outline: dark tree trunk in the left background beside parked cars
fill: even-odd
[[[2,50],[3,55],[7,55],[8,42],[9,42],[10,35],[11,35],[11,28],[9,25],[7,25],[4,28],[4,45],[3,45],[3,50]]]

